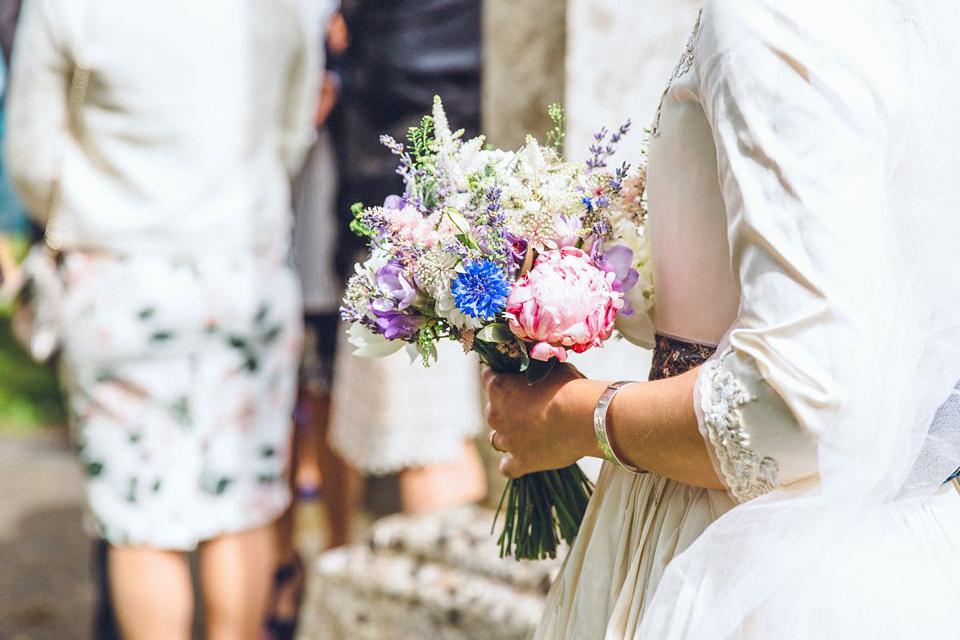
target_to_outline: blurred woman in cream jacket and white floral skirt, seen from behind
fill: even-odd
[[[261,631],[290,500],[312,30],[294,0],[23,8],[5,153],[58,223],[63,383],[127,638],[190,637],[195,549],[208,637]]]

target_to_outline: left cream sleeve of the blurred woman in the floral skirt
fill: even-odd
[[[46,223],[69,143],[67,91],[74,63],[63,21],[48,0],[23,4],[6,96],[4,154],[31,216]]]

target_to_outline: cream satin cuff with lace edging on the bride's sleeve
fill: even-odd
[[[717,472],[738,502],[816,474],[813,437],[733,349],[701,369],[695,408]]]

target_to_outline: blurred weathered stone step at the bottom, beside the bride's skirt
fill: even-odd
[[[492,518],[480,507],[389,516],[368,544],[322,554],[300,638],[528,638],[561,560],[499,558]]]

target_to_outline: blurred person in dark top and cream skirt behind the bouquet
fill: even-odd
[[[480,128],[480,0],[345,0],[349,46],[333,125],[340,160],[340,205],[381,204],[403,193],[397,160],[379,138],[403,140],[443,98],[454,128]],[[345,229],[346,224],[343,225]],[[340,262],[360,250],[344,232]],[[347,270],[345,269],[345,271]],[[341,330],[330,438],[371,475],[399,473],[409,512],[467,504],[486,496],[473,436],[481,429],[475,361],[445,354],[430,368],[405,353],[371,360],[352,355]],[[476,400],[476,407],[469,400]]]

